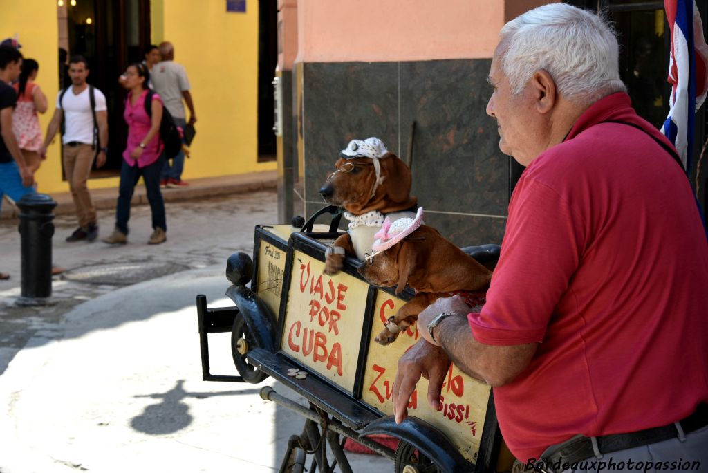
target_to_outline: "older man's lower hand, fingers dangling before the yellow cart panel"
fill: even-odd
[[[392,393],[396,423],[408,416],[409,399],[421,376],[428,380],[428,404],[440,409],[440,390],[449,368],[450,358],[445,351],[425,340],[418,341],[401,356]]]

